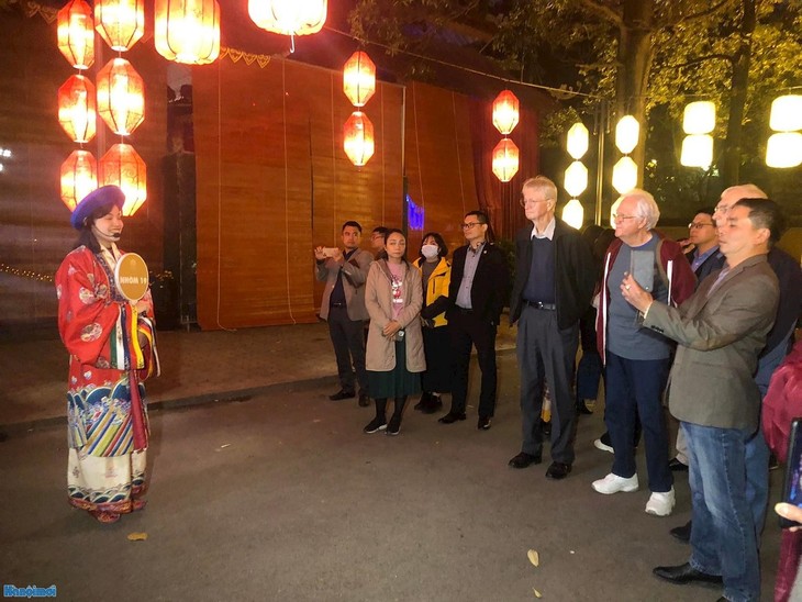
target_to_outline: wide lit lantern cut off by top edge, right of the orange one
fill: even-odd
[[[281,35],[318,33],[326,22],[327,0],[248,0],[257,26]]]

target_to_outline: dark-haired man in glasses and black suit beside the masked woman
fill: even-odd
[[[504,254],[493,244],[484,212],[467,213],[463,234],[468,244],[454,252],[448,287],[450,308],[446,311],[454,353],[452,409],[437,422],[453,424],[465,420],[470,349],[476,346],[482,372],[477,428],[487,431],[495,411],[495,330],[510,276]]]

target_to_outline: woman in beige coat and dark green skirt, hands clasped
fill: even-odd
[[[400,230],[389,230],[385,238],[386,259],[370,265],[365,283],[365,306],[370,314],[366,367],[376,417],[364,431],[387,431],[398,435],[409,395],[421,392],[421,372],[426,369],[421,334],[423,289],[421,272],[406,261],[406,239]],[[393,398],[387,423],[388,398]]]

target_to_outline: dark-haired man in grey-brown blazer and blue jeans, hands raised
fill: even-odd
[[[725,267],[706,278],[679,309],[624,278],[624,298],[643,324],[678,342],[669,409],[688,439],[693,528],[691,557],[657,567],[672,583],[724,584],[724,599],[759,600],[755,519],[747,499],[746,445],[759,427],[758,354],[779,299],[767,261],[782,219],[776,203],[742,199],[720,224]]]

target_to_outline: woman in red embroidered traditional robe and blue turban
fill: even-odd
[[[80,237],[56,272],[58,331],[69,352],[69,503],[101,523],[145,505],[142,381],[158,374],[151,293],[129,301],[114,278],[124,200],[104,186],[78,203],[70,222]]]

